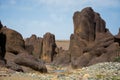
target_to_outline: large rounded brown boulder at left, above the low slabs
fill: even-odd
[[[20,33],[7,27],[3,27],[1,32],[6,36],[6,52],[18,54],[24,51],[24,39]]]

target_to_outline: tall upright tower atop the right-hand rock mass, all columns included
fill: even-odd
[[[105,33],[105,21],[99,13],[93,11],[91,7],[84,8],[81,12],[75,12],[73,16],[74,35],[91,42],[97,37],[97,33]]]

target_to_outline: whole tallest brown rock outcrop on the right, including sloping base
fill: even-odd
[[[106,28],[105,21],[91,7],[75,12],[74,34],[70,37],[69,51],[74,68],[98,62],[112,61],[119,48],[119,39]],[[114,45],[114,49],[112,47]],[[111,58],[111,59],[110,59]]]

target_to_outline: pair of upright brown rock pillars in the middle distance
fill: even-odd
[[[48,63],[53,61],[56,54],[55,36],[51,33],[46,33],[43,38],[32,35],[25,40],[25,45],[27,51]]]

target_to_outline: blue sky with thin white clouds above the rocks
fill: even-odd
[[[120,27],[120,0],[0,0],[0,20],[24,38],[46,32],[56,39],[69,39],[73,33],[73,14],[92,7],[117,34]]]

